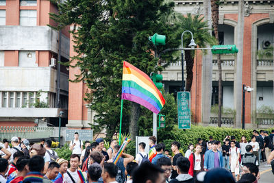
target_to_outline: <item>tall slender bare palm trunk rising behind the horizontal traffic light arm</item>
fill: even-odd
[[[214,29],[215,38],[217,40],[217,44],[219,45],[219,33],[218,33],[218,24],[219,24],[219,0],[211,0],[211,16],[212,16],[212,27]],[[222,65],[221,65],[221,55],[217,54],[217,64],[219,71],[219,111],[218,111],[218,126],[221,127],[221,119],[222,119]]]

